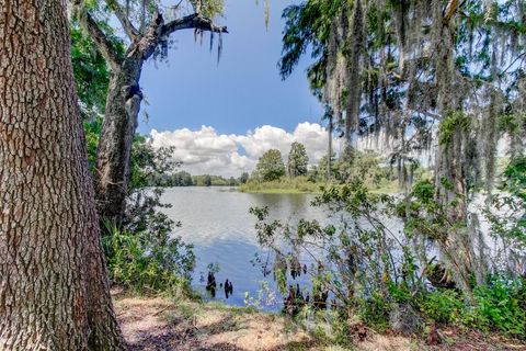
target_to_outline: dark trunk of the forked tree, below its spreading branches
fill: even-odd
[[[112,76],[98,151],[96,206],[103,219],[116,224],[125,210],[132,143],[142,94],[139,89],[142,58],[126,58]]]

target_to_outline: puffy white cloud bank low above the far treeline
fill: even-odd
[[[151,131],[153,147],[175,147],[173,157],[183,162],[183,169],[193,174],[219,174],[238,177],[251,172],[258,159],[268,149],[282,151],[284,161],[290,144],[305,145],[310,163],[317,163],[327,152],[328,133],[317,123],[300,123],[294,132],[263,125],[244,135],[218,134],[214,127],[202,126],[173,132]]]

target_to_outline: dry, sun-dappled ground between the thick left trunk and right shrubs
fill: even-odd
[[[117,318],[130,350],[309,350],[302,331],[285,318],[241,308],[117,297]]]

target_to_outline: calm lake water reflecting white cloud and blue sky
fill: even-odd
[[[244,305],[244,294],[256,296],[262,281],[267,281],[275,291],[272,276],[263,276],[261,269],[251,261],[259,252],[266,253],[258,246],[255,217],[249,214],[251,206],[268,206],[274,219],[294,223],[296,218],[325,220],[325,214],[309,206],[313,195],[308,194],[248,194],[229,188],[171,188],[167,189],[162,201],[172,204],[163,210],[174,220],[181,220],[182,227],[175,234],[195,246],[197,258],[193,285],[202,291],[207,275],[207,265],[217,263],[216,274],[218,292],[216,299],[232,305]],[[272,275],[272,274],[271,274]],[[219,288],[219,283],[228,279],[233,284],[233,295],[228,299]],[[296,283],[291,281],[290,283]],[[282,301],[281,298],[277,298]],[[265,309],[278,309],[282,305],[265,306]]]

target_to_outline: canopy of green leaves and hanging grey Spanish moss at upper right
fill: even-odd
[[[438,189],[444,201],[480,185],[491,192],[504,133],[511,154],[524,149],[521,1],[304,0],[283,18],[282,77],[310,54],[307,77],[331,126],[345,125],[350,146],[376,140],[405,192],[415,155],[435,151],[438,124],[436,185],[445,179],[455,188]],[[450,215],[467,206],[457,201]]]

